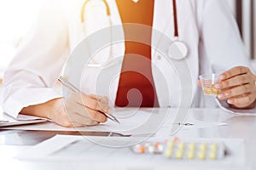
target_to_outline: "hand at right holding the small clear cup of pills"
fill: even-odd
[[[236,108],[252,108],[256,99],[256,76],[247,67],[237,66],[218,76],[215,88],[221,90],[218,99],[227,99]]]

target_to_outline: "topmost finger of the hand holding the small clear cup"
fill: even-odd
[[[224,81],[224,80],[230,79],[231,77],[236,77],[238,75],[246,74],[249,71],[250,70],[247,67],[236,66],[236,67],[230,69],[229,71],[225,71],[224,73],[220,74],[218,76],[218,79],[220,81]]]

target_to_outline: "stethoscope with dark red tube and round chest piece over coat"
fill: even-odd
[[[83,4],[82,11],[81,11],[81,21],[84,23],[84,9],[91,0],[86,0]],[[106,0],[102,0],[106,7],[106,12],[108,15],[108,18],[110,20],[111,13],[110,8],[108,6],[108,3]],[[189,54],[189,48],[186,45],[185,42],[179,40],[179,34],[178,34],[178,26],[177,26],[177,3],[176,0],[172,0],[172,6],[173,6],[173,23],[174,23],[174,40],[169,45],[168,48],[168,56],[171,59],[181,60],[185,59]],[[111,21],[109,21],[111,24]]]

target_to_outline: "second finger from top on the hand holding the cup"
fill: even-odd
[[[247,74],[232,77],[230,79],[224,80],[222,82],[215,83],[214,87],[218,89],[225,89],[225,88],[233,88],[236,86],[240,86],[241,84],[247,84],[250,82],[251,79]]]

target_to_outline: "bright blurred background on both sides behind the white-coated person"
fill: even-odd
[[[0,0],[0,78],[45,0]],[[256,71],[256,1],[226,0]]]

